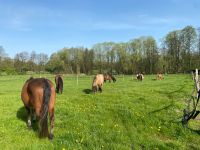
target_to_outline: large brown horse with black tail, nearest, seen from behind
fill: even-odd
[[[53,139],[54,104],[56,99],[53,83],[45,78],[30,78],[21,91],[21,99],[28,112],[28,127],[35,115],[39,120],[39,137]],[[48,131],[48,113],[50,117],[50,133]]]

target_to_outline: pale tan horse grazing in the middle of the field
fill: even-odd
[[[96,93],[98,91],[102,92],[103,82],[104,82],[103,74],[97,74],[94,77],[94,80],[93,80],[93,83],[92,83],[92,91],[94,93]]]

